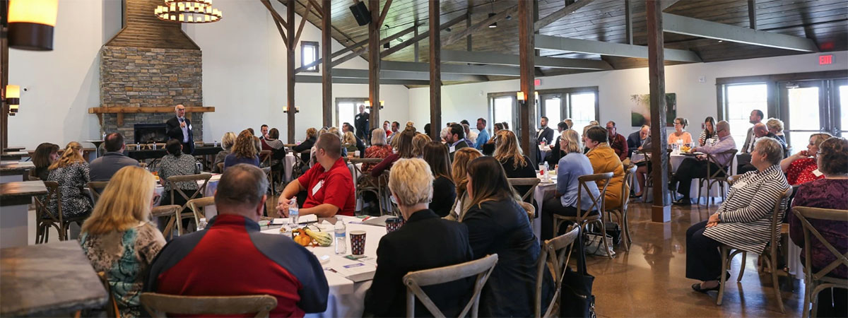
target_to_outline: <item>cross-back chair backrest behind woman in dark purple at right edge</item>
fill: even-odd
[[[829,220],[835,222],[848,222],[848,210],[845,209],[821,209],[821,208],[808,208],[802,206],[792,207],[792,213],[795,213],[795,216],[798,216],[798,220],[801,220],[801,225],[804,226],[804,254],[805,254],[805,263],[804,271],[808,271],[813,280],[822,279],[822,277],[827,276],[831,271],[834,271],[840,265],[848,266],[848,254],[842,254],[839,250],[834,248],[834,245],[829,243],[823,236],[821,232],[818,232],[815,226],[812,226],[810,220]],[[810,233],[816,237],[819,243],[821,243],[824,248],[827,248],[831,254],[834,254],[836,259],[824,266],[823,269],[819,270],[816,273],[812,272],[812,248],[811,248],[811,240]],[[809,283],[809,282],[808,282]]]

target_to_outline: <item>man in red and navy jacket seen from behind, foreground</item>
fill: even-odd
[[[332,151],[339,147],[336,142]],[[290,237],[259,232],[267,188],[265,174],[253,165],[224,171],[215,192],[218,215],[203,231],[176,237],[162,248],[145,290],[182,296],[268,294],[276,298],[271,316],[325,311],[329,288],[315,255]]]

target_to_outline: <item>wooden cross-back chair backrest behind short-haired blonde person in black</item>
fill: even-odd
[[[477,276],[474,282],[474,292],[471,294],[471,299],[460,313],[460,317],[465,317],[468,310],[471,310],[471,317],[477,317],[477,310],[480,307],[480,292],[483,290],[483,285],[486,284],[488,276],[492,274],[494,265],[498,263],[498,254],[491,254],[482,259],[471,260],[457,265],[449,265],[444,267],[433,268],[423,271],[410,271],[404,275],[404,285],[406,285],[406,316],[414,317],[416,312],[416,296],[421,299],[421,304],[427,307],[427,310],[435,317],[444,317],[442,310],[432,303],[427,294],[421,290],[421,287],[438,285],[445,282],[454,282],[462,278]]]

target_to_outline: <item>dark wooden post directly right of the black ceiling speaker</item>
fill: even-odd
[[[371,126],[380,127],[380,0],[368,0],[371,24],[368,25],[368,100],[371,101]]]

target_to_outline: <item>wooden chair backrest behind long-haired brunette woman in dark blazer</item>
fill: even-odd
[[[559,301],[562,278],[568,265],[568,259],[571,258],[571,247],[579,234],[580,227],[572,225],[568,226],[566,234],[544,241],[536,269],[536,317],[550,317],[555,307],[554,304]],[[556,289],[554,297],[551,298],[550,304],[548,304],[548,310],[542,315],[542,283],[544,282],[545,267],[551,270],[550,275],[554,276]]]

